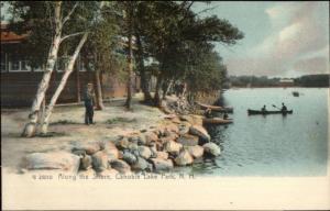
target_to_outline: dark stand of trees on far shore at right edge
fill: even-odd
[[[329,87],[330,75],[306,75],[295,79],[295,85],[300,87]]]

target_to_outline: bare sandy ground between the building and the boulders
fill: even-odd
[[[85,125],[82,106],[55,108],[50,125],[52,137],[21,137],[26,123],[29,109],[1,111],[1,160],[4,173],[16,173],[24,155],[33,152],[54,149],[68,151],[74,142],[114,140],[114,136],[150,129],[163,119],[164,114],[133,101],[133,110],[127,111],[122,101],[110,102],[106,109],[95,112],[94,125]],[[2,173],[3,173],[2,171]]]

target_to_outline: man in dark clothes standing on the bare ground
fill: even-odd
[[[95,93],[92,84],[88,84],[86,87],[86,91],[84,95],[84,102],[86,108],[85,113],[85,124],[94,124],[92,118],[94,118],[94,106],[95,106]]]

